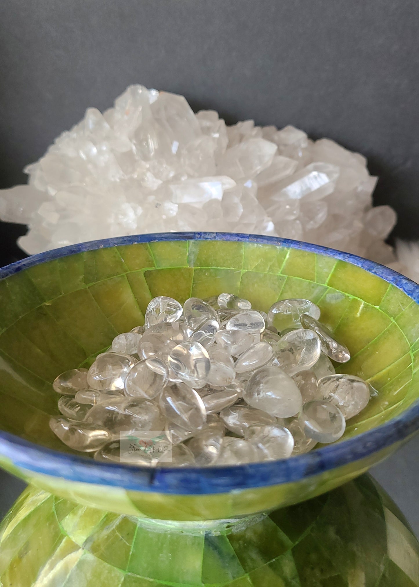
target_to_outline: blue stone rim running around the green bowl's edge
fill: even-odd
[[[419,303],[419,285],[393,269],[350,253],[285,238],[230,232],[163,232],[83,242],[32,255],[0,269],[0,279],[33,265],[93,249],[157,241],[238,241],[276,245],[319,253],[357,265],[395,285]],[[38,446],[13,434],[0,431],[0,454],[13,465],[35,474],[65,478],[68,481],[108,485],[127,491],[166,494],[213,494],[303,481],[320,473],[358,461],[409,437],[419,429],[419,400],[403,414],[380,426],[285,460],[225,467],[148,468],[107,464],[84,456],[61,453]],[[367,465],[366,465],[367,466]]]

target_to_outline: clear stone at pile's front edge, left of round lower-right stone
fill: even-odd
[[[288,458],[294,448],[289,430],[279,424],[256,424],[245,431],[245,438],[258,450],[262,460]]]

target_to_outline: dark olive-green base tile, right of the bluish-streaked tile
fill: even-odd
[[[244,528],[233,528],[228,539],[246,573],[272,561],[292,546],[290,539],[268,517]]]

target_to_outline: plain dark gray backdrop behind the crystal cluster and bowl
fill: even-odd
[[[130,83],[227,122],[295,124],[369,158],[374,201],[418,238],[417,0],[2,0],[0,187]],[[0,264],[25,229],[0,225]],[[419,440],[374,474],[419,532]],[[0,508],[20,491],[0,475]]]

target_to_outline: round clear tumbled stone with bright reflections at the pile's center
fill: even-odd
[[[211,363],[207,349],[199,342],[182,342],[168,357],[168,364],[176,375],[191,387],[207,383]]]

